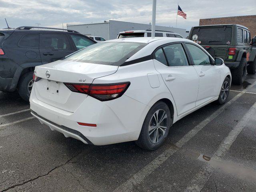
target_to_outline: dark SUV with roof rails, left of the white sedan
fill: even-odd
[[[20,96],[28,101],[35,66],[60,60],[95,43],[67,29],[23,26],[0,30],[0,91],[18,89]]]

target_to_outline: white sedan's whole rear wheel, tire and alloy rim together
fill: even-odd
[[[168,135],[172,122],[171,113],[166,103],[157,102],[148,111],[140,136],[135,143],[146,150],[159,148]]]

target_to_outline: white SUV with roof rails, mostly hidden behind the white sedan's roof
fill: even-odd
[[[183,38],[180,34],[169,32],[169,31],[159,31],[155,32],[156,37],[176,37]],[[117,39],[120,38],[131,38],[131,37],[151,37],[151,30],[134,30],[134,31],[122,31],[118,34]]]

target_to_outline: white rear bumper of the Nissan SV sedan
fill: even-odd
[[[34,87],[30,95],[32,115],[42,124],[66,137],[94,145],[137,140],[149,108],[125,95],[107,102],[88,96],[75,112],[68,112],[38,100]],[[78,122],[96,127],[81,126]]]

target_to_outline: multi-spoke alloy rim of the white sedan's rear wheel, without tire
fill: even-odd
[[[167,129],[168,118],[164,110],[157,110],[151,117],[148,126],[148,136],[152,143],[158,143],[164,138]]]

